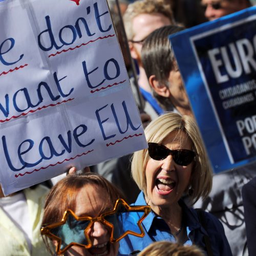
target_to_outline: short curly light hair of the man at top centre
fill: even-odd
[[[128,40],[134,37],[133,19],[140,14],[155,14],[160,13],[174,24],[173,12],[170,5],[164,3],[164,0],[139,0],[130,5],[123,15],[125,32]]]

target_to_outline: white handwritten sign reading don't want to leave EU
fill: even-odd
[[[106,0],[0,3],[4,193],[145,148]]]

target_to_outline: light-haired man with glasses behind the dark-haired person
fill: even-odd
[[[145,101],[144,111],[154,119],[162,113],[162,109],[152,96],[141,61],[141,48],[147,35],[155,29],[174,24],[172,10],[163,0],[139,0],[128,6],[123,19],[131,55],[138,65],[138,84]],[[131,83],[133,87],[133,79]]]

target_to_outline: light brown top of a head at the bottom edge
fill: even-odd
[[[142,250],[138,256],[204,256],[195,245],[184,246],[167,241],[154,242]]]

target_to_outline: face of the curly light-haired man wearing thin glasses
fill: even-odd
[[[132,41],[134,42],[130,41],[130,49],[132,57],[138,60],[139,65],[141,64],[142,40],[154,30],[167,25],[171,25],[170,20],[160,13],[139,14],[133,19],[134,37]]]

